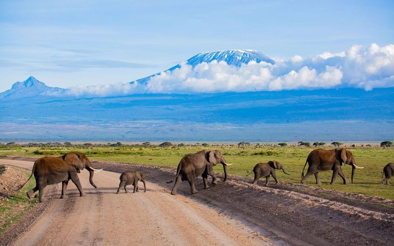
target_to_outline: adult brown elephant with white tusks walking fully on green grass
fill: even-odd
[[[306,163],[309,164],[308,171],[304,176],[304,169]],[[332,170],[332,178],[330,184],[335,184],[336,175],[339,174],[343,179],[343,184],[348,184],[346,181],[345,176],[342,173],[341,165],[342,163],[348,164],[352,166],[352,183],[354,177],[354,171],[356,168],[363,168],[358,167],[356,165],[356,160],[353,157],[352,152],[346,149],[333,149],[333,150],[324,150],[324,149],[317,149],[309,153],[308,158],[306,158],[306,162],[304,168],[302,169],[301,175],[301,183],[305,184],[306,179],[314,174],[316,178],[316,184],[322,184],[319,178],[319,172]]]

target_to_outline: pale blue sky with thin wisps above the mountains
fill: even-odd
[[[384,46],[393,12],[394,1],[0,0],[0,92],[30,75],[63,88],[129,82],[203,51]]]

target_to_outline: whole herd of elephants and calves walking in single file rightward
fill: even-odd
[[[213,166],[216,164],[222,164],[224,169],[224,179],[223,182],[227,180],[227,166],[231,165],[226,163],[225,158],[218,150],[202,150],[194,154],[185,155],[178,164],[176,175],[175,175],[175,184],[171,190],[171,194],[175,195],[178,185],[187,180],[190,184],[190,189],[192,194],[197,193],[198,191],[195,188],[195,179],[201,175],[204,183],[204,188],[208,188],[208,175],[212,177],[212,184],[217,184],[216,174],[213,171]],[[306,164],[309,164],[306,175],[304,176],[304,169]],[[352,166],[352,183],[354,177],[354,171],[358,167],[356,165],[356,160],[353,157],[353,154],[346,149],[333,149],[333,150],[324,150],[317,149],[313,150],[307,157],[304,168],[302,170],[302,179],[301,183],[304,184],[306,179],[314,174],[316,178],[316,184],[321,184],[319,178],[319,172],[332,170],[332,178],[331,183],[335,183],[335,178],[339,175],[343,179],[343,184],[347,184],[346,178],[342,173],[341,165],[345,163]],[[66,189],[68,181],[71,180],[79,190],[80,196],[84,196],[84,191],[82,189],[81,183],[79,182],[78,173],[80,170],[86,168],[89,173],[89,182],[95,188],[96,184],[93,183],[93,174],[95,171],[100,171],[102,169],[95,169],[89,158],[80,152],[70,152],[64,154],[59,157],[45,156],[37,159],[34,162],[32,174],[28,181],[34,175],[36,185],[33,189],[27,192],[29,198],[33,198],[34,192],[39,191],[38,197],[39,201],[44,201],[44,193],[43,189],[48,184],[59,184],[62,183],[62,196],[61,198],[66,198]],[[287,174],[278,161],[269,161],[268,163],[258,163],[253,168],[253,173],[255,174],[255,178],[253,180],[253,184],[257,184],[261,177],[266,178],[265,186],[267,186],[269,182],[269,176],[271,175],[275,182],[278,183],[276,178],[275,169],[282,169],[285,174]],[[383,184],[389,184],[389,179],[394,176],[394,163],[387,164],[383,172],[385,174],[385,179],[382,180]],[[249,175],[249,174],[248,174]],[[28,182],[26,181],[25,184]],[[121,187],[125,188],[126,193],[127,185],[132,184],[134,186],[133,192],[138,191],[138,181],[143,182],[144,189],[146,191],[145,186],[145,177],[144,174],[137,171],[128,171],[124,172],[120,176],[120,184],[117,190],[119,193]],[[167,183],[171,183],[173,181],[169,181]],[[25,184],[21,185],[19,189],[21,189]],[[144,192],[145,192],[144,191]]]

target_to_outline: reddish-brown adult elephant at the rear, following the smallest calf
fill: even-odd
[[[93,183],[93,173],[94,171],[101,171],[102,169],[94,169],[92,162],[86,157],[85,154],[80,152],[70,152],[59,157],[44,156],[37,159],[34,162],[32,174],[30,175],[28,181],[34,175],[35,187],[28,192],[27,196],[32,199],[34,192],[38,190],[39,201],[44,202],[44,188],[48,184],[59,184],[62,183],[62,196],[60,198],[66,198],[66,190],[68,181],[71,180],[78,188],[79,195],[84,196],[81,183],[77,173],[84,168],[88,169],[90,176],[89,182],[93,187],[97,188],[96,184]],[[21,189],[25,184],[22,184],[19,189]]]

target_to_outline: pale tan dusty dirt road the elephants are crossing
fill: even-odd
[[[1,164],[32,169],[33,162],[0,160]],[[86,196],[79,197],[68,183],[68,198],[56,199],[14,245],[286,245],[261,228],[246,225],[213,206],[182,195],[172,196],[163,186],[149,182],[144,193],[116,194],[119,173],[95,173],[97,189],[81,171]],[[49,186],[48,186],[49,187]],[[45,189],[46,191],[48,187]],[[132,185],[129,189],[132,192]],[[51,196],[50,192],[47,196]],[[22,223],[23,224],[23,223]],[[12,228],[11,228],[12,229]],[[0,242],[1,245],[1,242]]]

